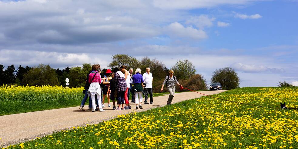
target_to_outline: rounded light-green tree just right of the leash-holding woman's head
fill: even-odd
[[[171,69],[174,70],[177,78],[189,78],[196,74],[195,66],[187,59],[177,61]]]

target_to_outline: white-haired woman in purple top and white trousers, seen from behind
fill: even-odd
[[[142,109],[142,101],[143,101],[143,88],[144,88],[144,80],[143,75],[141,75],[141,69],[136,69],[136,75],[132,76],[133,88],[135,90],[135,102],[136,109]]]

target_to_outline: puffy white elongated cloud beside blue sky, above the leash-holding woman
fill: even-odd
[[[208,37],[203,30],[196,29],[191,26],[184,27],[182,24],[178,22],[171,23],[165,28],[165,30],[168,32],[168,34],[175,38],[186,37],[193,39],[204,39]]]

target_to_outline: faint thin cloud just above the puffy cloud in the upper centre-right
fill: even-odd
[[[192,24],[200,29],[203,29],[204,27],[213,26],[213,21],[215,19],[216,18],[214,18],[214,17],[209,18],[208,15],[199,15],[199,16],[191,17],[190,19],[186,20],[185,23]]]

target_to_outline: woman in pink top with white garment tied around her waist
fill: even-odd
[[[98,73],[98,71],[100,70],[100,68],[98,67],[98,65],[92,65],[92,71],[89,74],[89,83],[90,83],[90,87],[88,89],[88,95],[91,96],[91,100],[92,100],[92,112],[95,112],[95,108],[96,108],[96,103],[95,103],[95,95],[97,96],[98,99],[100,99],[101,96],[101,87],[100,87],[100,83],[101,83],[101,79],[100,79],[100,74]],[[99,103],[99,111],[105,111],[102,109],[102,104],[101,104],[101,100],[98,100]]]

